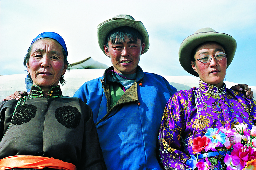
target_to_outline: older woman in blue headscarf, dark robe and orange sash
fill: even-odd
[[[0,169],[106,169],[91,108],[62,96],[67,48],[54,32],[39,34],[24,58],[29,96],[0,103]]]

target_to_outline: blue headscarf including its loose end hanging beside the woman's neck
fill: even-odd
[[[63,49],[66,53],[66,56],[68,56],[68,50],[67,50],[65,41],[59,34],[57,34],[55,32],[43,32],[43,33],[39,34],[35,39],[33,39],[31,45],[41,38],[52,38],[52,39],[58,41],[58,43],[63,47]],[[26,83],[27,92],[29,92],[31,89],[31,86],[33,85],[33,82],[29,81],[29,76],[27,76],[25,78],[25,83]]]

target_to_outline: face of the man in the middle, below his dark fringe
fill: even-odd
[[[114,71],[122,74],[133,74],[137,71],[140,55],[144,51],[145,44],[141,44],[141,40],[137,42],[129,40],[125,36],[125,41],[120,41],[112,44],[108,42],[108,47],[105,45],[104,50],[114,66]]]

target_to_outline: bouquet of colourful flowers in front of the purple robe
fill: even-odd
[[[256,127],[240,123],[208,128],[203,137],[193,139],[193,153],[186,164],[198,170],[256,170]],[[187,169],[187,170],[189,170]]]

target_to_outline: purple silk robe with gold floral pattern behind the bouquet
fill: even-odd
[[[192,140],[207,128],[247,123],[251,129],[255,120],[254,100],[226,85],[218,89],[199,81],[198,88],[176,92],[165,107],[159,132],[161,162],[165,169],[190,168],[186,161],[193,154]]]

